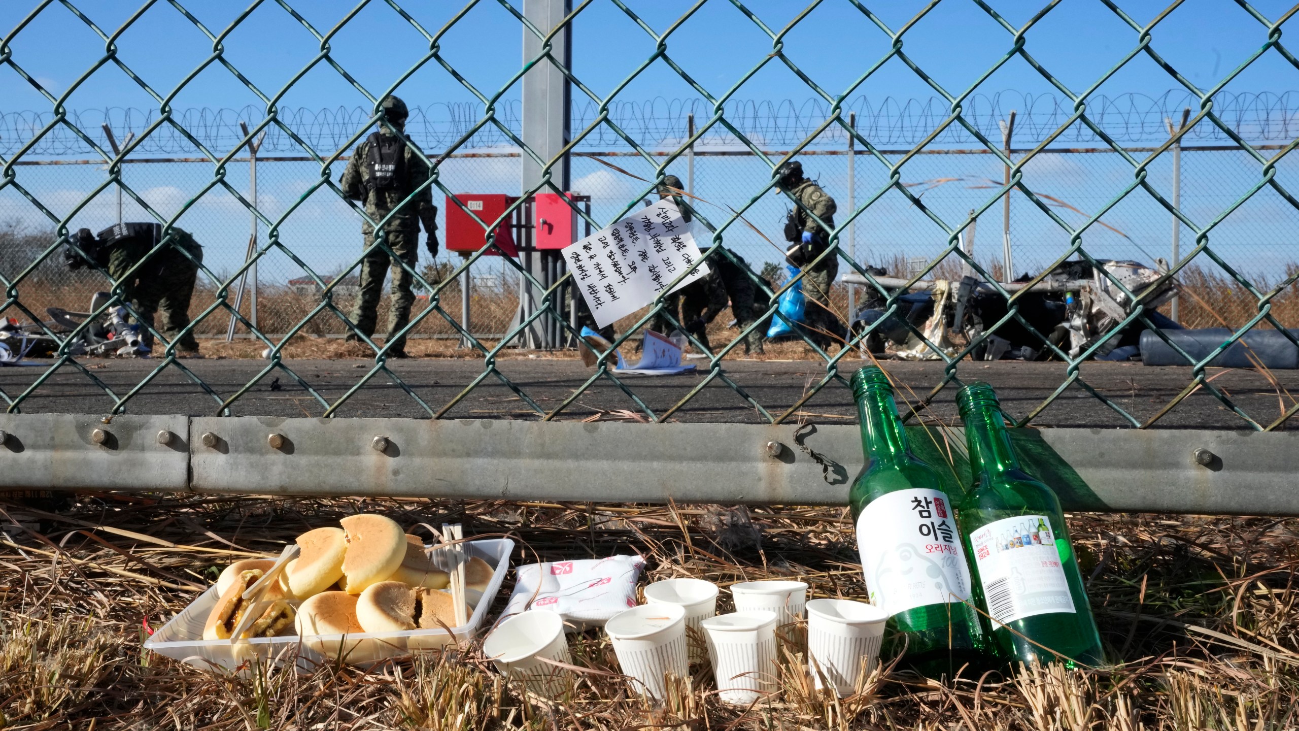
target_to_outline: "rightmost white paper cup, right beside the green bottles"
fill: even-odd
[[[840,697],[857,691],[857,679],[879,662],[879,641],[889,613],[860,601],[812,600],[808,609],[808,669]]]

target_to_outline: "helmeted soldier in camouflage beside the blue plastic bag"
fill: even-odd
[[[834,199],[816,182],[803,177],[803,164],[798,160],[790,160],[777,168],[776,177],[777,187],[801,204],[790,211],[785,222],[785,239],[791,243],[786,259],[805,272],[803,293],[812,300],[807,306],[807,325],[811,329],[808,337],[822,349],[829,347],[831,342],[843,345],[847,330],[830,310],[830,285],[839,274],[839,258],[837,254],[830,254],[809,267],[812,260],[830,246],[829,229],[834,228]],[[829,229],[822,229],[808,212],[821,219]]]

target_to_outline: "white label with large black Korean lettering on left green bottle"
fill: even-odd
[[[969,601],[970,570],[951,505],[940,490],[920,488],[866,505],[857,516],[857,550],[870,604],[892,615]]]

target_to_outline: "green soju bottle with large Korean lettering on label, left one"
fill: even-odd
[[[887,611],[887,644],[929,675],[982,666],[989,641],[972,605],[970,571],[938,473],[911,453],[883,371],[852,376],[866,464],[848,503],[870,602]]]

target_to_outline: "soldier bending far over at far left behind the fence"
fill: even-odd
[[[199,263],[203,261],[203,247],[187,232],[173,226],[170,233],[171,241],[153,256],[148,254],[162,241],[162,224],[117,224],[99,232],[99,235],[92,235],[90,229],[81,229],[74,239],[82,251],[122,285],[122,299],[130,303],[140,325],[165,334],[175,342],[178,351],[196,354],[199,341],[194,339],[194,333],[187,332],[179,339],[177,333],[190,324],[190,299],[194,297]],[[71,269],[87,264],[71,248],[64,258]],[[131,267],[142,260],[144,263],[127,276]],[[162,317],[155,324],[155,315],[158,312]],[[144,345],[153,347],[153,334],[145,328],[140,330]]]

